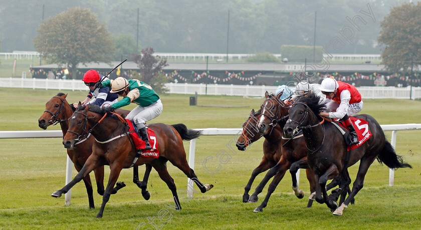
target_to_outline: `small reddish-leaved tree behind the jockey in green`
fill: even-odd
[[[160,58],[159,56],[153,55],[153,48],[147,47],[142,49],[142,53],[139,55],[133,55],[133,60],[139,66],[140,80],[150,84],[152,87],[162,87],[162,76],[160,79],[153,81],[153,78],[159,76],[162,68],[167,66],[166,58]],[[162,75],[162,74],[161,74]],[[159,85],[154,85],[153,83],[158,83]],[[154,88],[155,89],[155,88]],[[156,88],[156,90],[160,90]]]

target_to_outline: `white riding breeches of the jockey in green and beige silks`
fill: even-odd
[[[157,117],[159,114],[161,114],[161,112],[162,102],[161,99],[158,99],[156,102],[149,106],[142,107],[139,105],[133,108],[133,110],[131,110],[129,114],[127,114],[126,118],[129,120],[133,120],[136,125],[145,124],[146,121]]]

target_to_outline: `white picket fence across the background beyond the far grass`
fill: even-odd
[[[82,80],[40,79],[0,77],[0,87],[12,88],[42,88],[58,90],[88,90]],[[265,91],[275,92],[277,86],[273,85],[235,85],[235,84],[190,84],[190,83],[165,83],[168,93],[180,94],[208,94],[231,96],[263,96]],[[421,99],[421,87],[381,87],[361,86],[357,88],[365,99],[396,98],[396,99]]]

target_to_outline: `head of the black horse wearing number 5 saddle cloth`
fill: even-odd
[[[319,104],[319,99],[319,96],[310,92],[307,96],[294,102],[288,112],[289,119],[284,126],[285,137],[291,138],[300,129],[318,123],[317,115],[326,108],[325,104]]]

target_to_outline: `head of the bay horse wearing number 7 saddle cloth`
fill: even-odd
[[[82,105],[79,101],[78,108],[69,118],[69,129],[63,137],[63,144],[65,148],[73,148],[76,141],[81,140],[91,131],[91,122],[96,122],[96,115],[91,117],[88,115],[89,107],[89,105]]]

